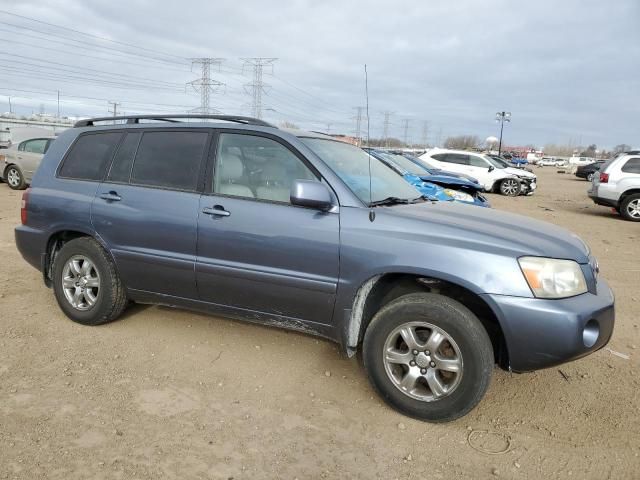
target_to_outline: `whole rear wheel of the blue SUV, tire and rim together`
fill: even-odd
[[[89,237],[65,243],[55,256],[53,291],[65,315],[82,325],[111,322],[127,305],[113,260]]]

